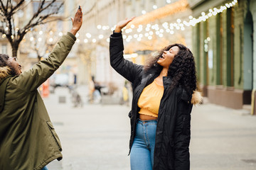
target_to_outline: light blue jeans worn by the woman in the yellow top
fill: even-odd
[[[132,170],[151,170],[154,163],[157,120],[137,120],[136,134],[130,153]]]

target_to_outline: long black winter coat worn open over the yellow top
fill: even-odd
[[[136,120],[139,118],[137,105],[143,89],[151,84],[159,75],[144,72],[142,65],[134,64],[123,57],[123,40],[121,33],[110,36],[110,64],[125,79],[132,83],[131,137],[129,149],[135,137]],[[164,94],[159,106],[158,123],[156,127],[156,145],[154,149],[154,170],[188,170],[189,142],[191,138],[191,96],[181,87],[176,87],[171,94],[167,89],[171,78],[164,77]]]

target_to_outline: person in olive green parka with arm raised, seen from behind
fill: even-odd
[[[68,56],[82,26],[82,9],[71,18],[73,27],[58,41],[46,60],[21,72],[16,57],[0,54],[0,169],[41,170],[62,159],[61,145],[38,93]]]

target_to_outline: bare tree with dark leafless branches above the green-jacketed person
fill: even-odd
[[[6,23],[6,25],[0,26],[0,33],[6,34],[6,38],[11,43],[11,47],[13,49],[13,55],[16,55],[16,51],[18,50],[19,43],[23,40],[24,36],[28,32],[30,28],[36,27],[41,24],[49,23],[51,21],[56,21],[59,18],[51,19],[46,21],[47,18],[50,16],[59,13],[60,8],[63,7],[64,1],[57,6],[56,4],[57,0],[52,1],[46,1],[41,0],[38,2],[38,9],[36,13],[33,13],[33,16],[29,19],[28,23],[23,26],[23,28],[20,28],[17,32],[15,30],[14,25],[14,13],[16,13],[18,10],[22,10],[26,6],[25,0],[19,0],[16,1],[16,6],[13,6],[12,4],[13,0],[0,0],[0,16],[3,16],[3,19],[1,18],[0,23]],[[6,4],[4,3],[6,2]],[[28,4],[31,2],[28,2]],[[57,6],[57,7],[56,7]],[[43,14],[43,11],[47,11],[46,14]],[[8,27],[9,29],[6,30],[4,26]],[[14,37],[13,37],[14,36]]]

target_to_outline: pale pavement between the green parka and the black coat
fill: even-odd
[[[58,96],[66,96],[66,103],[59,104]],[[88,103],[73,108],[68,89],[56,89],[44,101],[63,147],[63,160],[49,170],[129,169],[129,108]]]

